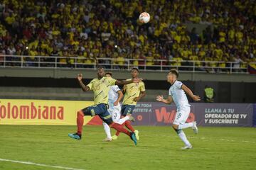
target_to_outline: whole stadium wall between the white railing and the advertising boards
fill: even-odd
[[[92,93],[82,93],[75,77],[82,72],[85,84],[96,77],[90,69],[0,69],[0,97],[90,101]],[[141,72],[146,86],[146,98],[155,101],[156,95],[167,96],[170,84],[167,72]],[[127,79],[128,71],[114,71],[114,78]],[[179,79],[194,94],[204,96],[206,85],[213,87],[217,103],[256,103],[256,76],[251,74],[206,74],[181,72]],[[190,101],[192,102],[192,101]]]

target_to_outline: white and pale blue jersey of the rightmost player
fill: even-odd
[[[181,89],[182,85],[183,84],[181,83],[181,81],[176,80],[169,89],[169,96],[173,98],[177,109],[180,109],[183,106],[190,106],[190,104],[188,103],[188,98],[185,94],[185,91]]]

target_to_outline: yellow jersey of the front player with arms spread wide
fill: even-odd
[[[102,79],[92,79],[92,81],[87,84],[94,93],[95,105],[100,103],[107,104],[110,86],[115,85],[116,81],[116,79],[112,79],[111,77],[102,77]]]

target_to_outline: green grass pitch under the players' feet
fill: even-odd
[[[171,127],[136,127],[137,146],[126,135],[102,142],[102,126],[85,126],[82,140],[72,140],[75,126],[0,125],[0,159],[74,169],[256,169],[256,128],[186,129],[193,149]],[[0,169],[55,169],[0,161]]]

